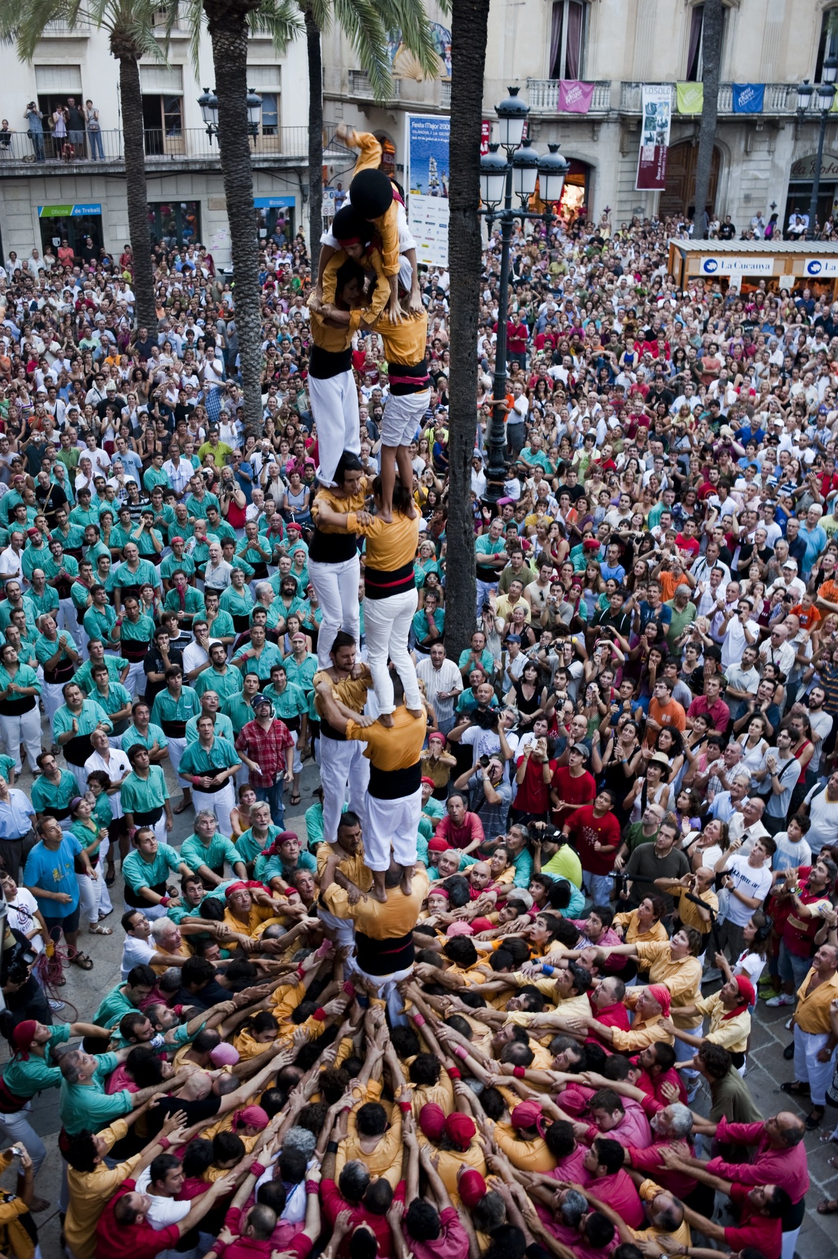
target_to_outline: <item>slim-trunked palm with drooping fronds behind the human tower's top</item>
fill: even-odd
[[[323,58],[320,37],[333,20],[355,50],[376,101],[393,94],[388,35],[398,31],[427,78],[436,78],[440,58],[420,0],[299,0],[309,58],[309,254],[316,273],[323,232]],[[442,5],[447,11],[447,0]]]

